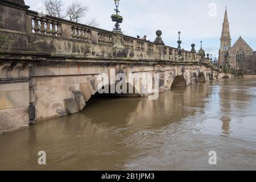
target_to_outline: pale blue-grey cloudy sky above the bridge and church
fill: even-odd
[[[25,0],[31,10],[38,10],[42,1]],[[89,12],[81,23],[96,18],[98,27],[113,29],[114,22],[110,19],[115,8],[113,0],[74,1],[89,6]],[[68,6],[72,0],[63,2]],[[177,47],[177,32],[181,31],[181,47],[190,50],[191,44],[195,43],[198,50],[202,40],[205,52],[218,56],[226,5],[232,44],[241,35],[256,51],[255,0],[120,0],[119,10],[124,19],[121,28],[123,34],[141,37],[147,35],[151,41],[155,40],[155,31],[160,29],[164,43],[172,47]]]

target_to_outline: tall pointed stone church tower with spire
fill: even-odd
[[[224,65],[227,63],[229,49],[231,48],[231,36],[229,30],[228,11],[225,11],[224,22],[222,24],[222,33],[220,38],[220,50],[218,53],[218,64]]]

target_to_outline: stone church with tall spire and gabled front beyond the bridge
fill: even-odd
[[[246,64],[246,58],[256,54],[256,51],[253,51],[241,36],[233,46],[231,45],[231,40],[228,12],[226,10],[222,24],[218,64],[229,65],[233,69],[242,69],[243,64]]]

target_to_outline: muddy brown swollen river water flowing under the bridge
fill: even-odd
[[[0,169],[256,169],[256,81],[92,98],[79,114],[0,137]],[[38,165],[38,151],[47,165]],[[217,152],[217,166],[208,164]]]

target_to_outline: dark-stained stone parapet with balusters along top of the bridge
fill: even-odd
[[[24,5],[13,5],[10,1],[0,1],[3,10],[0,15],[3,22],[0,23],[0,58],[5,60],[7,57],[15,58],[11,55],[23,55],[23,60],[63,60],[64,57],[74,61],[113,59],[200,63],[201,60],[196,52],[179,51],[164,44],[44,15],[28,10]],[[13,13],[15,10],[20,11],[23,17],[18,19],[18,23],[26,27],[22,31],[20,27],[5,26],[7,22],[17,21],[18,17]],[[6,56],[6,53],[10,55]],[[201,61],[213,66],[205,58]]]

